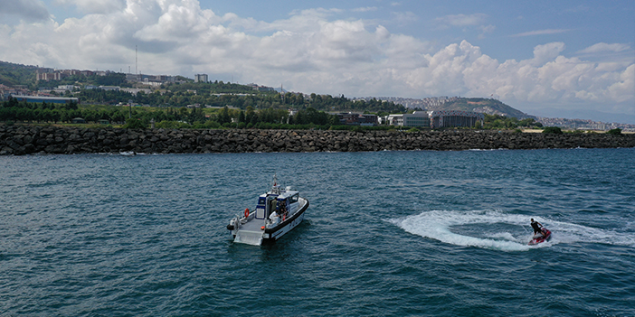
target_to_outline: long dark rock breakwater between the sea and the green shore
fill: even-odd
[[[635,135],[0,126],[0,154],[359,152],[635,147]]]

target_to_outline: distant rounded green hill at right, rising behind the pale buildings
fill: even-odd
[[[446,102],[441,106],[431,107],[428,110],[463,110],[482,112],[488,115],[499,115],[505,117],[516,117],[519,120],[536,117],[527,115],[526,113],[509,107],[497,99],[490,98],[457,98],[456,100]]]

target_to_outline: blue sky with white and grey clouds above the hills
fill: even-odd
[[[0,0],[0,61],[635,124],[632,0]]]

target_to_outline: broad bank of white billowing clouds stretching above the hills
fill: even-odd
[[[535,46],[530,59],[498,61],[466,41],[432,50],[430,42],[364,20],[337,20],[336,13],[305,10],[266,23],[219,16],[195,0],[128,0],[116,12],[61,24],[0,24],[0,60],[127,71],[134,70],[137,46],[138,70],[147,74],[231,75],[243,83],[346,96],[496,94],[512,107],[619,104],[620,111],[635,113],[631,60],[583,61],[564,56],[564,42],[550,42]],[[454,23],[477,25],[482,18]],[[629,50],[621,45],[585,50]]]

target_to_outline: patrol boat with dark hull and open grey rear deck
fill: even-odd
[[[296,228],[307,208],[308,200],[299,197],[299,191],[292,191],[290,186],[280,189],[274,174],[271,190],[258,197],[256,209],[248,208],[242,215],[236,215],[227,229],[232,232],[233,242],[261,246]]]

